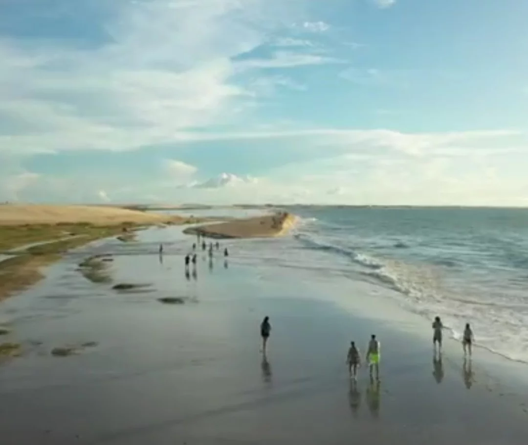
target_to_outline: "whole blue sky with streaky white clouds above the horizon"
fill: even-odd
[[[527,16],[1,0],[0,200],[527,206]]]

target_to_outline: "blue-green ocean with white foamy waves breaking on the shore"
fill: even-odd
[[[405,311],[439,316],[452,337],[468,322],[477,346],[528,363],[528,209],[287,210],[300,217],[293,233],[240,245],[245,261],[375,286]]]

